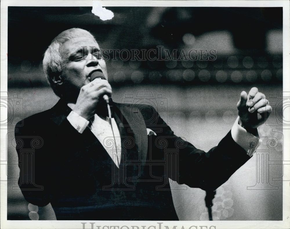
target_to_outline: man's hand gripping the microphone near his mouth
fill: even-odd
[[[99,100],[102,100],[105,94],[109,97],[111,96],[111,85],[105,79],[94,79],[92,82],[81,87],[73,111],[89,120],[96,112]]]

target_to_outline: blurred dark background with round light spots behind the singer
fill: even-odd
[[[132,61],[126,53],[112,60],[110,53],[106,64],[115,102],[147,100],[176,135],[202,150],[231,129],[240,93],[258,87],[273,114],[259,127],[263,143],[257,153],[217,190],[213,219],[282,220],[282,8],[107,9],[114,17],[102,21],[91,7],[8,7],[8,94],[1,94],[8,108],[7,219],[39,219],[39,209],[17,186],[14,126],[57,102],[42,70],[43,54],[61,31],[79,27],[102,49],[153,49],[150,58],[165,57],[157,46],[176,50],[175,58],[198,50],[194,61]],[[200,50],[207,50],[202,58],[208,60],[201,59]],[[209,50],[216,58],[208,58]],[[174,182],[171,188],[180,220],[208,220],[204,191]],[[53,218],[50,206],[45,210]]]

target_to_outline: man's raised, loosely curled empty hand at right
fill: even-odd
[[[243,91],[237,104],[240,116],[239,124],[246,130],[255,129],[266,122],[272,107],[269,105],[265,95],[253,87],[249,94]]]

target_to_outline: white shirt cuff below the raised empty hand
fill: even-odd
[[[262,140],[247,132],[246,129],[239,125],[238,120],[239,117],[235,120],[231,129],[232,138],[238,145],[246,150],[250,157],[252,157],[257,147],[262,143]]]

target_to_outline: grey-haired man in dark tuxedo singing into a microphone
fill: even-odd
[[[257,88],[242,92],[233,128],[205,153],[150,106],[110,100],[107,117],[103,96],[112,89],[88,31],[60,33],[43,65],[60,100],[16,126],[19,186],[28,202],[51,203],[59,220],[178,220],[168,178],[215,190],[252,156],[257,144],[249,140],[271,112]]]

